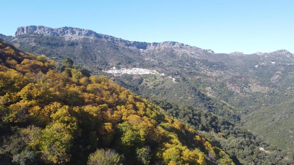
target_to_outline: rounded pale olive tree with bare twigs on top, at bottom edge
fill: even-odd
[[[122,165],[121,156],[113,149],[97,149],[90,154],[88,165]]]

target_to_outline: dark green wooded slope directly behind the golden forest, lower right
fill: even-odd
[[[242,123],[233,122],[229,117],[225,118],[198,107],[177,105],[154,97],[149,100],[165,110],[167,115],[176,117],[191,128],[201,131],[213,145],[225,150],[236,164],[294,163],[293,152],[287,154],[278,150],[275,145],[269,146],[245,129]],[[267,152],[261,152],[258,146],[265,148]]]

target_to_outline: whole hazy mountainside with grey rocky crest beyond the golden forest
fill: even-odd
[[[272,146],[268,155],[279,149],[293,152],[294,54],[287,50],[214,53],[173,41],[127,41],[72,27],[24,26],[17,28],[15,36],[0,37],[23,51],[56,61],[70,57],[93,75],[107,75],[169,115],[206,132],[236,164],[259,164],[253,159],[260,152],[256,147],[269,150]],[[156,70],[164,75],[102,72],[113,67]],[[201,123],[204,112],[209,118],[216,116],[217,122]]]

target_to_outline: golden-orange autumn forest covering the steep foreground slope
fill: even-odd
[[[234,164],[195,129],[70,58],[0,41],[1,164]]]

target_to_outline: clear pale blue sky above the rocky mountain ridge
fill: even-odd
[[[293,0],[0,2],[0,33],[72,26],[130,41],[178,41],[216,53],[294,53]]]

